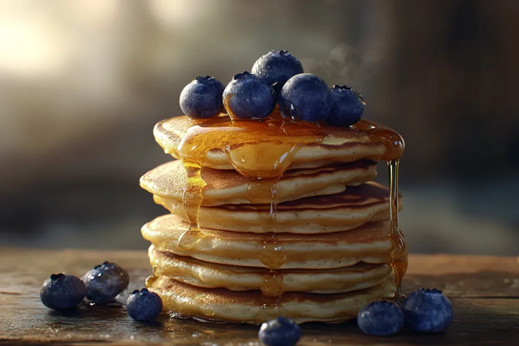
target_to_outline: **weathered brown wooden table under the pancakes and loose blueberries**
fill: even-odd
[[[151,271],[145,251],[40,251],[0,248],[0,345],[168,344],[259,345],[257,326],[170,319],[132,321],[121,307],[83,306],[73,312],[45,308],[39,288],[51,273],[81,275],[104,260],[125,267],[129,289]],[[368,337],[356,323],[305,324],[298,345],[519,345],[519,258],[410,255],[403,289],[436,287],[452,300],[454,321],[443,334],[402,331]]]

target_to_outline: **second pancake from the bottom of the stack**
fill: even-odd
[[[233,291],[261,290],[275,296],[284,292],[344,293],[373,287],[392,275],[389,264],[354,266],[326,270],[277,270],[218,265],[192,257],[178,256],[155,250],[148,251],[154,275],[168,276],[176,281],[206,288],[227,288]]]

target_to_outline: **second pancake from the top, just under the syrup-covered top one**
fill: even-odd
[[[331,195],[342,192],[347,185],[360,185],[377,175],[373,161],[356,161],[328,165],[322,168],[285,171],[276,183],[275,202],[281,203],[309,196]],[[250,179],[235,170],[215,170],[203,167],[204,206],[248,204]],[[167,162],[141,177],[141,187],[154,195],[182,202],[187,174],[180,160]],[[269,184],[271,184],[269,182]],[[254,204],[270,203],[270,199],[255,196]]]

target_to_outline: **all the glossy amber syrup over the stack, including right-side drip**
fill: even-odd
[[[232,121],[221,115],[214,119],[193,122],[176,148],[176,155],[184,165],[188,179],[182,202],[189,220],[187,229],[178,240],[181,248],[192,248],[199,241],[198,212],[202,202],[202,191],[206,185],[200,176],[200,168],[210,150],[225,153],[230,164],[250,179],[248,199],[251,203],[270,200],[270,213],[262,222],[275,223],[277,217],[276,183],[287,170],[297,151],[305,145],[318,144],[329,137],[330,126],[325,123],[285,121],[279,110],[262,121]],[[360,133],[359,133],[360,132]],[[384,154],[368,157],[388,162],[390,178],[391,229],[388,237],[392,243],[391,266],[397,287],[400,286],[407,268],[407,250],[402,233],[398,228],[398,159],[403,153],[404,142],[395,131],[367,120],[360,120],[350,127],[346,136],[383,144]],[[343,140],[348,140],[344,138]],[[279,268],[285,261],[283,247],[277,235],[265,233],[260,261],[271,271],[264,275],[262,293],[264,307],[276,307],[282,315],[279,297],[283,293],[283,275]],[[395,292],[398,296],[399,292]],[[261,312],[260,312],[261,314]],[[259,317],[259,316],[258,316]]]

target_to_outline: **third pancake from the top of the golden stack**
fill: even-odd
[[[187,222],[181,202],[159,196],[154,200]],[[399,201],[399,209],[401,206]],[[335,195],[280,203],[275,220],[271,219],[269,204],[202,206],[198,214],[202,227],[255,233],[329,233],[388,219],[389,190],[373,182],[348,187]]]

